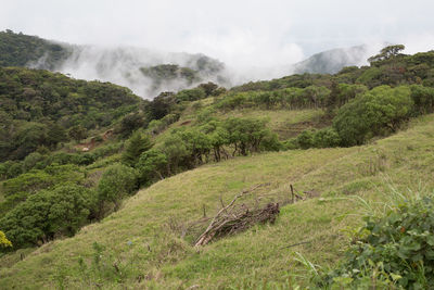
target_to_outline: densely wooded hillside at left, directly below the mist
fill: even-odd
[[[0,161],[21,160],[40,146],[55,149],[85,129],[105,127],[137,110],[141,99],[108,83],[48,71],[0,67]],[[3,123],[4,122],[4,123]]]

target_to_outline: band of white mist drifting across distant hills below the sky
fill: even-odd
[[[344,66],[367,64],[367,59],[381,48],[380,45],[363,45],[334,49],[316,53],[295,64],[282,60],[282,65],[264,67],[224,64],[200,53],[114,46],[60,46],[67,51],[65,60],[55,62],[53,66],[52,60],[44,54],[27,65],[61,72],[75,78],[111,81],[128,87],[145,99],[152,99],[162,91],[178,91],[207,81],[231,87],[294,73],[336,73]]]

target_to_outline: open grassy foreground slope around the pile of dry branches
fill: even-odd
[[[356,226],[363,209],[348,196],[383,200],[388,184],[414,189],[420,180],[433,188],[433,141],[434,115],[430,115],[370,146],[266,153],[186,172],[140,191],[119,212],[74,238],[44,244],[24,261],[3,267],[0,288],[197,285],[209,289],[284,282],[289,276],[303,276],[295,251],[321,265],[341,256],[346,244],[342,230]],[[220,196],[228,202],[240,190],[261,182],[270,182],[257,192],[266,200],[285,197],[290,184],[299,191],[319,191],[322,199],[286,205],[275,225],[254,227],[200,251],[179,238],[178,226],[200,218],[203,204],[212,215],[220,206]],[[307,240],[311,242],[283,249]],[[90,266],[94,241],[106,247],[99,270]],[[87,270],[80,270],[80,257]],[[304,277],[296,280],[303,283]]]

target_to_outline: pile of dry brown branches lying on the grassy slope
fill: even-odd
[[[247,205],[237,205],[235,201],[241,197],[251,193],[258,185],[250,190],[244,190],[214,216],[206,230],[197,238],[195,245],[207,244],[215,238],[232,235],[246,230],[258,223],[273,223],[279,214],[279,203],[268,203],[261,209],[248,209]]]

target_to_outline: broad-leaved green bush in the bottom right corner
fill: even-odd
[[[433,194],[400,196],[384,215],[363,220],[345,260],[324,276],[322,286],[346,279],[353,288],[375,275],[404,289],[434,287]]]

